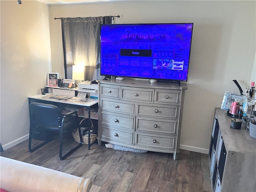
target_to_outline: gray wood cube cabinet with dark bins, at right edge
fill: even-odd
[[[243,125],[230,127],[231,117],[216,108],[209,147],[213,192],[256,191],[256,139]]]

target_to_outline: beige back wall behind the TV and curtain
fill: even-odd
[[[64,77],[61,21],[120,15],[115,23],[194,22],[181,148],[208,153],[215,107],[225,90],[250,85],[256,47],[255,1],[117,1],[50,6],[52,70]]]

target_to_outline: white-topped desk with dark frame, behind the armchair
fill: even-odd
[[[38,95],[33,95],[28,97],[28,104],[32,102],[41,102],[41,103],[47,103],[47,104],[55,104],[56,106],[74,106],[76,108],[77,106],[82,107],[82,113],[78,114],[78,116],[83,117],[83,118],[88,118],[89,122],[92,118],[98,119],[98,113],[97,114],[91,114],[91,107],[98,104],[98,99],[97,98],[81,98],[81,97],[72,97],[67,100],[59,100],[59,99],[52,99],[49,98],[49,96],[52,96],[53,94],[51,93],[46,93],[45,95],[38,94]],[[84,110],[86,108],[87,110]],[[98,109],[98,107],[97,107]],[[90,131],[90,130],[89,130]],[[89,134],[90,136],[90,134]],[[93,144],[90,144],[90,137],[88,138],[88,150],[90,150],[90,146]]]

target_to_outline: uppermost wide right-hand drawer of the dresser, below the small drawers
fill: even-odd
[[[136,114],[154,116],[155,118],[178,118],[179,106],[138,104]]]

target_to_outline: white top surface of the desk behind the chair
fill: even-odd
[[[58,103],[73,104],[73,105],[79,105],[79,106],[86,106],[86,107],[90,107],[90,106],[93,106],[94,104],[98,103],[97,98],[72,97],[72,98],[67,99],[67,100],[59,100],[59,99],[49,98],[52,95],[54,95],[54,94],[46,93],[45,95],[38,94],[38,95],[29,96],[28,98],[38,99],[38,100],[45,100],[45,101],[52,101],[52,102],[58,102]]]

